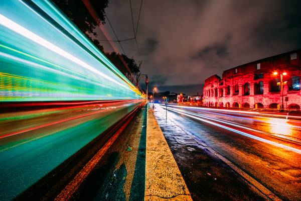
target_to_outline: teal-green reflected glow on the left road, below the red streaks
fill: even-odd
[[[18,140],[2,145],[0,149],[5,151],[0,152],[0,200],[15,198],[136,106],[132,104],[45,137],[42,137],[43,133],[31,138],[21,135],[19,146],[16,146]]]

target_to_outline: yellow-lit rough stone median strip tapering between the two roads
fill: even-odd
[[[144,200],[192,200],[150,107],[147,111]]]

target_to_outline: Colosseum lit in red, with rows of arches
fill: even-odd
[[[299,110],[300,56],[301,50],[291,51],[225,70],[222,78],[207,78],[203,105]]]

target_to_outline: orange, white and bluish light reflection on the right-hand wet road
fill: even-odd
[[[175,139],[170,140],[170,146],[189,144],[188,139],[197,139],[278,197],[301,198],[300,119],[177,106],[168,107],[166,119],[165,108],[157,105],[155,115],[162,130],[169,131],[164,132],[166,138]],[[179,158],[184,157],[188,156]]]

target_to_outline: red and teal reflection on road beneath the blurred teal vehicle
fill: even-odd
[[[140,100],[57,107],[0,115],[1,200],[11,200],[103,131]]]

